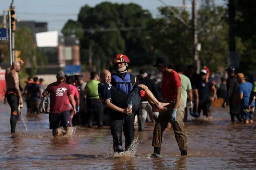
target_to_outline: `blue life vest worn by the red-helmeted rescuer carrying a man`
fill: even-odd
[[[129,93],[133,89],[133,85],[132,85],[132,81],[129,73],[126,73],[123,79],[121,79],[115,74],[113,74],[111,77],[115,81],[115,84],[112,84],[112,85],[118,90]]]

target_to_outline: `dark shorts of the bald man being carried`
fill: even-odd
[[[139,94],[140,90],[143,90],[143,88],[140,86],[137,86],[134,89],[132,89],[132,91],[128,95],[128,101],[127,101],[126,107],[130,103],[130,101],[132,101],[132,112],[137,111],[140,107],[140,102],[141,102],[141,96]]]

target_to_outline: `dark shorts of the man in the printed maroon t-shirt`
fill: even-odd
[[[70,127],[69,121],[70,113],[68,110],[61,113],[49,114],[50,129],[57,129],[59,127]]]

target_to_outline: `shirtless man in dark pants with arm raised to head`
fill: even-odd
[[[6,81],[6,93],[5,98],[11,107],[11,133],[15,133],[16,123],[19,118],[19,104],[23,104],[21,97],[21,92],[19,88],[19,75],[20,65],[24,62],[20,60],[19,62],[13,62],[10,67],[6,69],[5,81]]]

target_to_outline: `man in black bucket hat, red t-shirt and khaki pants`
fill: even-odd
[[[172,122],[175,138],[178,143],[181,155],[187,155],[187,138],[183,129],[183,118],[185,114],[184,102],[181,98],[181,79],[179,74],[172,70],[173,63],[170,63],[168,57],[161,56],[157,58],[154,67],[163,73],[162,96],[166,103],[170,103],[167,110],[159,113],[156,120],[152,146],[154,146],[153,157],[158,157],[161,151],[163,131]]]

